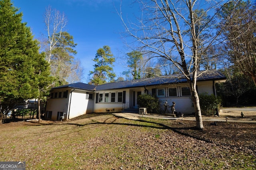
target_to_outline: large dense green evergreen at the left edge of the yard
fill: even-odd
[[[42,76],[49,76],[38,42],[16,12],[10,0],[0,1],[0,119],[25,99],[40,97]]]

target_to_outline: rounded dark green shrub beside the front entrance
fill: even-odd
[[[142,94],[138,96],[138,105],[140,107],[147,108],[148,113],[157,112],[159,110],[158,98],[151,96],[150,94]]]

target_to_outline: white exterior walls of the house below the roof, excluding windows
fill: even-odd
[[[197,82],[198,93],[207,92],[209,95],[214,94],[213,83],[213,81]],[[145,93],[155,94],[160,100],[162,110],[164,110],[164,102],[167,101],[169,106],[171,106],[174,101],[176,103],[176,112],[191,114],[194,112],[194,108],[192,106],[191,95],[187,95],[188,92],[186,90],[190,91],[187,83],[115,90],[96,90],[94,92],[70,87],[56,88],[53,89],[51,98],[48,99],[45,118],[60,120],[57,116],[58,112],[59,114],[60,112],[66,113],[64,114],[64,120],[67,120],[91,112],[121,112],[125,108],[138,108],[137,96],[138,94]],[[59,95],[60,92],[62,92],[62,95]],[[67,96],[65,97],[63,96],[64,92],[67,92]],[[123,96],[125,92],[125,101],[123,97],[122,101],[118,101],[119,92],[122,92]],[[111,101],[112,93],[115,94],[114,102]],[[108,99],[106,94],[108,94]],[[100,95],[102,97],[101,101],[99,101]],[[170,112],[170,108],[168,108],[168,111]],[[52,113],[51,118],[47,118],[47,112]]]

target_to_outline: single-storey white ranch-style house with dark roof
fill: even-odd
[[[216,95],[215,84],[225,81],[226,77],[217,70],[199,72],[197,92]],[[166,101],[174,101],[177,112],[194,112],[186,79],[169,75],[98,86],[78,82],[54,87],[46,102],[45,119],[68,120],[92,112],[129,112],[138,109],[137,97],[144,93],[156,95],[161,107]]]

